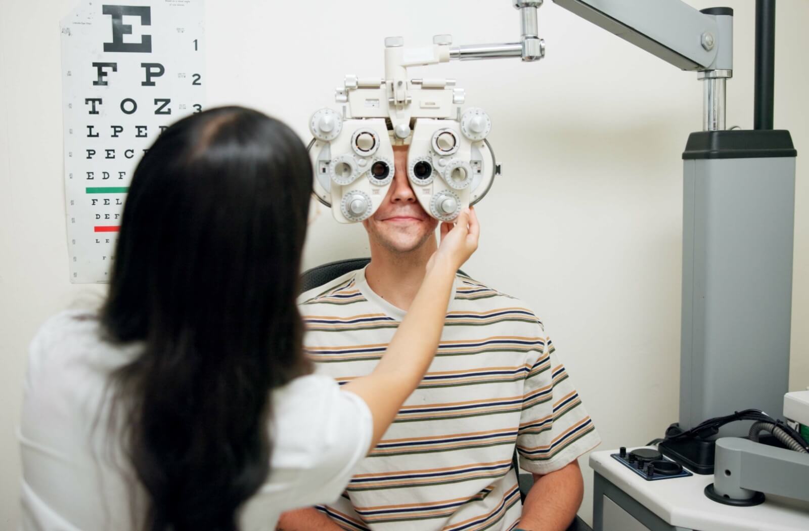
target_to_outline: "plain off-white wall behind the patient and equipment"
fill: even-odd
[[[209,105],[259,108],[307,136],[344,74],[381,76],[383,38],[425,45],[515,40],[508,0],[209,0]],[[697,8],[712,2],[691,0]],[[752,127],[753,4],[735,9],[728,125]],[[68,0],[3,0],[0,12],[0,528],[18,519],[15,441],[26,348],[47,316],[97,298],[71,286],[61,175],[58,22]],[[351,6],[350,13],[347,11]],[[715,5],[715,4],[714,4]],[[809,2],[777,14],[775,124],[798,148],[790,388],[809,384]],[[677,418],[682,164],[701,127],[701,86],[552,2],[540,9],[548,55],[451,63],[446,75],[493,120],[502,161],[481,205],[481,249],[465,270],[523,298],[545,321],[604,438],[644,444]],[[361,227],[323,211],[305,265],[367,255]],[[657,376],[668,375],[668,376]],[[590,520],[591,471],[582,515]]]

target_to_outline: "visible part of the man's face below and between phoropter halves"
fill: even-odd
[[[392,253],[410,253],[434,237],[438,220],[421,208],[407,178],[407,146],[394,146],[396,164],[388,195],[371,218],[362,222],[372,242]]]

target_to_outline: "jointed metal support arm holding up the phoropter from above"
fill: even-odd
[[[385,78],[390,118],[409,133],[409,66],[450,60],[544,57],[537,9],[543,0],[511,0],[520,14],[520,41],[452,46],[450,35],[437,35],[433,45],[404,48],[401,37],[385,40]],[[620,36],[682,70],[699,70],[705,80],[705,130],[725,129],[725,80],[733,70],[733,16],[728,8],[697,11],[680,0],[554,0],[565,9]],[[350,87],[346,87],[347,89]],[[345,95],[338,94],[345,99]]]

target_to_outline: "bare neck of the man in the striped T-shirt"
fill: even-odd
[[[408,311],[424,280],[427,261],[436,249],[434,239],[409,253],[395,253],[372,243],[371,263],[365,270],[368,286],[396,308]]]

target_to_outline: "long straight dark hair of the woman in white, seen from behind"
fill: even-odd
[[[101,322],[143,344],[110,383],[144,529],[238,529],[269,473],[269,392],[311,370],[295,304],[310,193],[299,138],[239,107],[176,122],[134,172]]]

